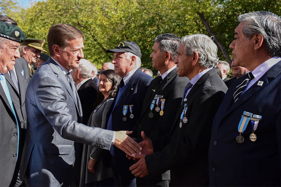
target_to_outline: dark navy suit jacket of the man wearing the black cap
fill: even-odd
[[[112,102],[112,105],[107,113],[106,125],[108,123],[109,116],[112,113],[113,131],[131,131],[134,124],[136,124],[137,120],[139,120],[140,118],[140,112],[142,109],[144,97],[151,80],[153,80],[153,77],[146,75],[140,69],[137,69],[137,71],[135,71],[135,73],[130,78],[129,82],[127,82],[125,90],[123,91],[120,99],[117,101],[115,108],[113,109],[116,97],[114,98],[114,101]],[[118,95],[118,92],[119,87],[116,96]],[[128,108],[128,112],[126,114],[127,120],[122,120],[122,118],[124,117],[123,105],[133,105],[134,117],[132,119],[129,117],[131,113],[130,108]],[[118,174],[120,174],[122,178],[124,177],[127,180],[132,180],[133,178],[135,178],[135,176],[132,175],[129,167],[133,165],[133,160],[129,160],[128,158],[126,158],[126,153],[124,153],[121,149],[118,149],[115,146],[113,148],[114,159],[116,160],[115,168],[117,169]],[[107,151],[106,154],[108,156],[108,154],[110,154],[109,151]],[[109,166],[108,164],[105,164],[105,162],[104,165],[107,167]]]

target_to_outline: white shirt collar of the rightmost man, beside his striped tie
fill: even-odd
[[[260,64],[259,66],[257,66],[253,71],[252,74],[255,77],[254,79],[252,79],[246,89],[244,89],[243,93],[248,90],[251,86],[253,86],[253,84],[255,84],[255,82],[257,82],[262,75],[264,75],[266,73],[266,71],[268,71],[272,66],[274,66],[275,64],[277,64],[279,61],[281,60],[281,57],[272,57],[270,59],[268,59],[267,61],[265,61],[264,63]],[[249,73],[250,71],[247,70],[246,73]],[[242,94],[243,94],[242,93]]]

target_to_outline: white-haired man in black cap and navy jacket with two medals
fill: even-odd
[[[122,78],[106,116],[107,129],[130,131],[140,118],[143,100],[153,77],[140,70],[141,52],[134,41],[120,41],[115,49],[106,52],[114,53],[112,64],[115,73]],[[125,153],[112,148],[115,186],[136,186],[135,176],[129,170],[133,161],[128,160]]]

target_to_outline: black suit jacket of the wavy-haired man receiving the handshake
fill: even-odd
[[[227,87],[215,69],[194,84],[175,116],[169,138],[153,141],[154,153],[145,157],[149,174],[170,169],[171,186],[208,186],[212,121],[226,91]],[[180,114],[185,103],[188,121],[180,128]]]

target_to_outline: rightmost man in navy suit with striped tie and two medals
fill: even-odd
[[[257,11],[238,21],[229,47],[247,71],[214,118],[210,186],[281,186],[281,17]]]

